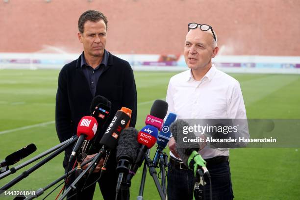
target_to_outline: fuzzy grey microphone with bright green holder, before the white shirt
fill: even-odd
[[[194,171],[194,175],[196,176],[197,170],[200,168],[203,174],[206,174],[210,177],[209,172],[206,168],[206,161],[201,157],[198,153],[200,150],[199,143],[188,144],[188,146],[183,145],[183,141],[180,136],[178,139],[178,135],[183,135],[183,127],[189,126],[189,124],[183,120],[178,119],[170,126],[171,133],[176,141],[176,151],[179,154],[182,162],[191,170]],[[196,139],[196,136],[193,132],[188,132],[185,137],[190,139]],[[180,146],[180,147],[179,147]]]

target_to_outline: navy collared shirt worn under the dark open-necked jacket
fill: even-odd
[[[84,58],[84,52],[82,52],[82,54],[81,54],[80,67],[89,83],[90,90],[91,90],[93,97],[95,97],[96,86],[97,86],[100,75],[104,72],[104,69],[108,68],[108,65],[107,65],[108,57],[109,57],[109,52],[107,50],[104,50],[103,58],[102,58],[100,65],[98,65],[94,69],[86,63],[85,58]]]

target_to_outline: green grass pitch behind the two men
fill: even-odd
[[[0,70],[0,132],[54,121],[58,73],[57,70]],[[176,73],[134,74],[138,90],[136,128],[140,129],[153,100],[165,98],[169,79]],[[248,118],[300,119],[299,75],[232,76],[241,83]],[[37,146],[37,151],[23,161],[59,143],[54,123],[0,134],[0,158],[4,159],[30,143]],[[36,190],[46,186],[63,175],[62,159],[63,154],[60,154],[11,189]],[[31,166],[0,180],[0,186]],[[296,149],[230,150],[230,166],[237,200],[295,200],[300,197],[300,151]],[[141,171],[142,168],[133,178],[131,199],[136,199],[138,194]],[[57,193],[58,190],[49,199],[54,199]],[[94,197],[95,200],[102,199],[99,189],[96,189]],[[159,199],[149,174],[144,199]]]

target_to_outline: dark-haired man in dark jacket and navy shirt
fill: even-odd
[[[133,71],[129,63],[105,50],[107,37],[107,19],[95,10],[84,12],[78,20],[78,39],[83,44],[83,52],[77,60],[66,64],[58,77],[56,94],[56,131],[60,142],[76,134],[76,128],[83,116],[90,115],[93,98],[101,95],[111,101],[111,112],[107,125],[122,106],[132,110],[130,126],[135,126],[137,112],[137,93]],[[107,125],[104,125],[104,130]],[[104,130],[100,131],[103,134]],[[72,147],[65,151],[63,166],[67,169]],[[91,158],[88,155],[87,158]],[[101,159],[86,186],[99,178]],[[86,168],[86,166],[84,167]],[[102,196],[105,200],[114,199],[117,173],[115,151],[110,155],[107,170],[99,180]],[[67,186],[75,177],[70,178]],[[96,183],[82,193],[84,199],[93,199]],[[70,197],[70,195],[69,195]]]

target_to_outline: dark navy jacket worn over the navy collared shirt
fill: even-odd
[[[75,135],[80,119],[83,116],[91,115],[90,105],[93,95],[80,68],[80,63],[81,56],[77,60],[66,64],[58,76],[55,125],[60,142]],[[103,132],[122,106],[132,110],[130,126],[134,127],[137,113],[137,93],[130,64],[110,53],[107,65],[108,68],[99,77],[95,94],[95,96],[105,97],[112,104],[110,116]],[[72,147],[66,150],[64,167],[67,164]]]

